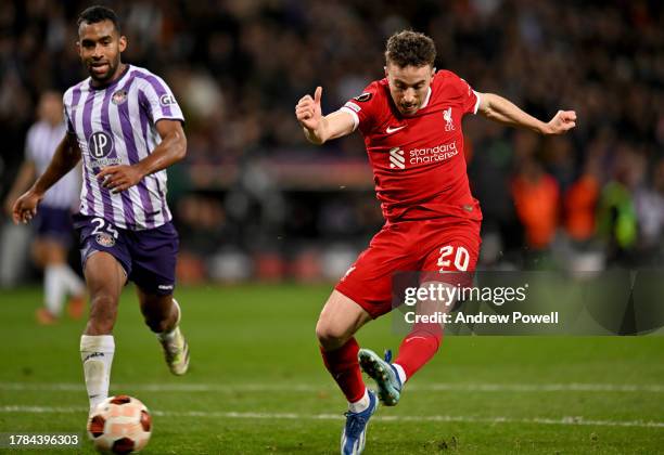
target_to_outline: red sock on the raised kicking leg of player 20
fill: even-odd
[[[399,355],[394,361],[404,368],[406,378],[410,379],[418,369],[434,356],[440,339],[443,338],[443,329],[437,324],[417,325],[399,346]]]

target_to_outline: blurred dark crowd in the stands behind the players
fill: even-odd
[[[359,134],[309,146],[294,105],[318,84],[323,113],[359,94],[382,77],[385,40],[404,28],[430,35],[437,66],[476,91],[541,119],[559,108],[578,115],[572,134],[546,140],[467,120],[469,173],[485,214],[482,266],[663,263],[659,1],[101,3],[122,18],[124,61],[164,77],[186,112],[188,158],[170,173],[170,196],[181,273],[192,281],[333,276],[366,245],[381,224],[370,172],[363,183],[311,191],[315,171],[307,184],[273,170],[303,161],[323,162],[322,173],[329,162],[368,166]],[[89,4],[0,1],[2,192],[23,158],[39,94],[86,77],[75,22]]]

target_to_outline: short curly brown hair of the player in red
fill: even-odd
[[[401,68],[406,66],[434,66],[436,46],[433,39],[424,34],[403,30],[394,34],[385,47],[385,61]]]

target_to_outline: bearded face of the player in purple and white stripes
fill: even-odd
[[[94,82],[103,84],[117,76],[127,39],[117,32],[113,22],[84,22],[78,28],[77,46],[78,55]]]

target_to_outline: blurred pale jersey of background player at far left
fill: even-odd
[[[25,159],[35,164],[37,176],[41,176],[53,158],[55,148],[64,138],[64,121],[52,126],[48,121],[38,121],[30,127],[25,139]],[[78,202],[80,177],[77,169],[72,169],[47,191],[41,200],[42,206],[72,210]]]

